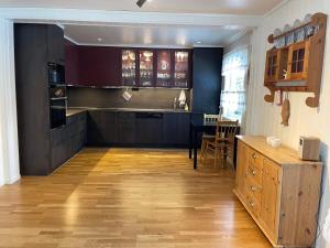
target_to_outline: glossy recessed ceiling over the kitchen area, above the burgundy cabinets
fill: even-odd
[[[224,46],[232,37],[244,32],[245,28],[235,25],[64,25],[64,30],[67,37],[85,45],[193,47]]]

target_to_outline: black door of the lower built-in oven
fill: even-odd
[[[51,99],[51,128],[66,125],[66,97]]]

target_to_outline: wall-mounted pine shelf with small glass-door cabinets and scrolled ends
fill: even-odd
[[[275,91],[309,91],[315,97],[308,97],[306,105],[315,108],[319,105],[320,85],[323,67],[323,54],[327,33],[327,15],[316,13],[310,23],[305,23],[278,36],[271,34],[268,42],[273,44],[276,39],[286,36],[299,29],[311,25],[314,34],[304,41],[286,45],[280,48],[273,47],[267,51],[264,86],[271,95],[264,97],[265,101],[274,103]],[[286,72],[286,76],[284,76]]]

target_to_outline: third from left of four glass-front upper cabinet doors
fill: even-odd
[[[172,86],[170,51],[157,51],[157,87]]]

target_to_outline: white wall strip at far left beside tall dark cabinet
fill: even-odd
[[[13,23],[0,19],[0,185],[20,179]]]

